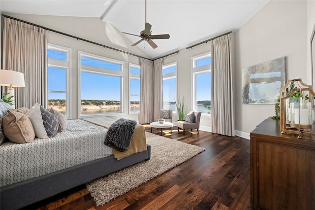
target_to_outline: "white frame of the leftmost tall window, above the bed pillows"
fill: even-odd
[[[71,69],[71,48],[60,46],[57,44],[52,44],[52,43],[47,43],[47,50],[54,50],[54,51],[60,51],[64,52],[66,54],[65,58],[66,61],[63,60],[58,60],[58,59],[53,59],[53,58],[48,58],[48,53],[47,53],[47,84],[48,84],[48,68],[58,68],[58,69],[65,69],[65,91],[53,91],[51,93],[65,93],[65,101],[66,101],[66,106],[65,106],[65,116],[67,119],[71,118],[71,77],[70,77],[70,69]],[[48,102],[48,93],[50,91],[48,90],[48,85],[47,85],[47,102]],[[48,103],[47,103],[48,104]]]

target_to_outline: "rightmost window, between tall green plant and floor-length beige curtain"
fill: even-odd
[[[191,58],[193,110],[201,111],[202,116],[211,113],[211,53]]]

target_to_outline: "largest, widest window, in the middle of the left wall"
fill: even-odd
[[[79,58],[79,116],[124,113],[125,63],[85,52]]]

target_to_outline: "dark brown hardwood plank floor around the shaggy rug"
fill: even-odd
[[[150,132],[151,127],[146,126]],[[196,130],[166,138],[202,146],[206,151],[116,198],[102,207],[85,185],[63,192],[26,209],[39,210],[248,210],[250,206],[250,140]],[[153,129],[160,135],[160,130]]]

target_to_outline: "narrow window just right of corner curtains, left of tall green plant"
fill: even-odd
[[[174,113],[176,113],[176,67],[176,62],[162,67],[163,109],[172,109]]]

